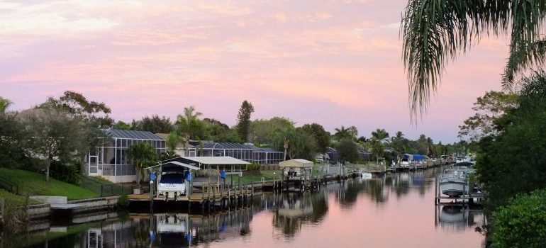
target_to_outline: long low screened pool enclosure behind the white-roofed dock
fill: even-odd
[[[271,148],[260,148],[254,145],[239,143],[216,142],[204,144],[201,156],[221,157],[229,156],[255,164],[278,164],[283,159],[283,153]]]

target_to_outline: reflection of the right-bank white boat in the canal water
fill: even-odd
[[[436,226],[445,230],[462,232],[469,227],[486,224],[483,210],[463,208],[462,205],[438,205],[436,207]]]

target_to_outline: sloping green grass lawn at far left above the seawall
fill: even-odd
[[[0,168],[0,177],[16,184],[21,196],[67,196],[69,200],[99,197],[96,192],[51,177],[46,182],[43,174],[31,171]]]

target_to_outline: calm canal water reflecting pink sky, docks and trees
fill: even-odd
[[[264,193],[222,213],[101,213],[52,220],[6,247],[484,247],[481,210],[434,204],[441,168]],[[95,222],[89,222],[96,218]],[[106,219],[106,220],[105,220]],[[58,222],[58,223],[57,223]],[[77,224],[85,222],[84,224]],[[38,228],[37,228],[38,229]]]

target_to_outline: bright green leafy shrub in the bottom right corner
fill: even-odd
[[[493,220],[493,247],[546,247],[546,188],[512,198]]]

